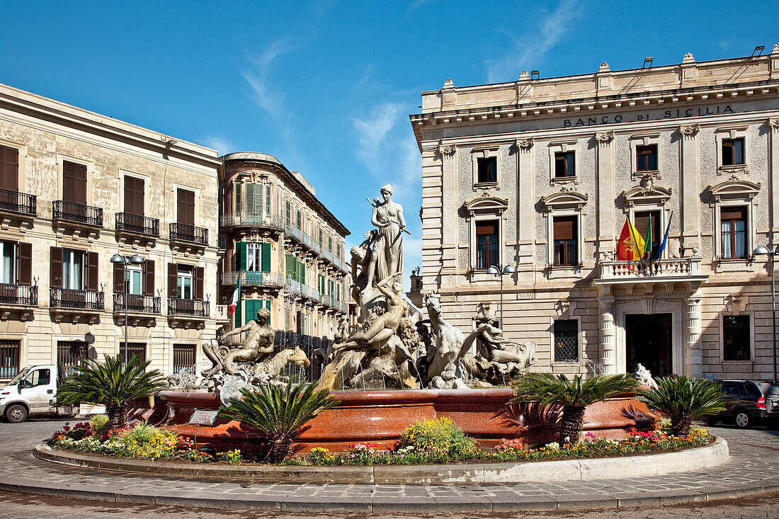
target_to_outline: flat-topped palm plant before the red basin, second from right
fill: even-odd
[[[565,375],[527,373],[512,385],[516,391],[512,403],[538,402],[562,406],[560,440],[568,438],[570,443],[579,441],[584,409],[588,405],[636,390],[636,381],[626,374],[596,375],[587,380],[577,375],[569,380]]]

